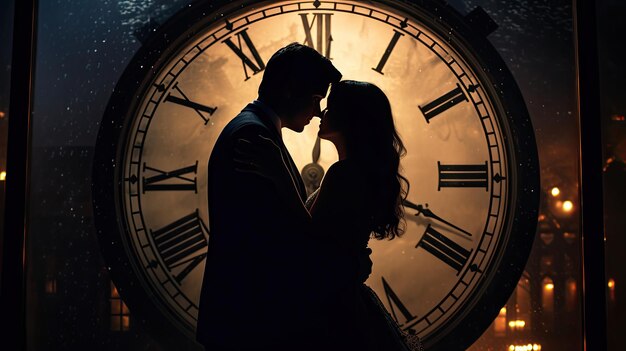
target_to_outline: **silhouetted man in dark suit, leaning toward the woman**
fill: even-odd
[[[271,139],[303,200],[302,178],[281,137],[320,115],[341,73],[317,51],[290,44],[268,61],[258,99],[222,131],[209,160],[210,239],[197,339],[207,350],[315,350],[327,331],[324,254],[289,216],[269,180],[235,169],[237,140]],[[278,152],[278,149],[277,151]],[[262,162],[262,161],[259,161]]]

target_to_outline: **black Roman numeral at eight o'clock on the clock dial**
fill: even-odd
[[[150,230],[161,259],[179,284],[206,258],[208,232],[197,209],[161,229]]]

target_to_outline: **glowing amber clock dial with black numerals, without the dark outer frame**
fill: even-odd
[[[406,330],[426,339],[445,333],[498,268],[517,194],[515,156],[502,102],[472,48],[417,8],[390,1],[231,7],[203,17],[151,63],[128,108],[114,171],[124,249],[142,289],[193,335],[210,237],[211,150],[257,97],[271,55],[291,42],[389,97],[407,148],[406,232],[370,240],[367,284]],[[300,134],[283,129],[300,168],[317,160],[318,126],[314,119]],[[318,163],[328,169],[336,160],[322,141]],[[242,220],[248,211],[242,203]]]

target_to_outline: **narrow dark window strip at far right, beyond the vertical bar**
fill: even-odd
[[[604,146],[604,237],[606,240],[608,349],[624,348],[626,325],[626,48],[619,37],[626,32],[622,20],[626,4],[620,0],[597,2],[600,94]]]

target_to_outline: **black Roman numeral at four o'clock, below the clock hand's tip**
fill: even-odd
[[[439,233],[430,224],[415,247],[421,247],[428,251],[433,256],[452,267],[457,272],[457,275],[459,275],[472,253],[471,250],[468,251],[464,249],[461,245]]]

